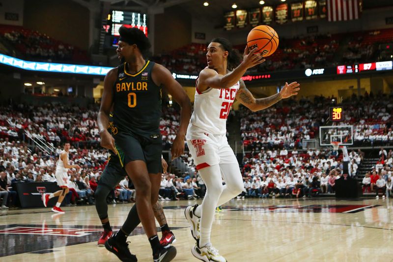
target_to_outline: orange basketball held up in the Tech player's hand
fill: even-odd
[[[269,26],[254,27],[247,36],[249,50],[257,48],[255,53],[261,53],[262,57],[272,55],[279,46],[277,32]]]

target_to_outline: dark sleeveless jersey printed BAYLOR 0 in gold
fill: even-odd
[[[143,137],[160,135],[161,87],[151,78],[153,66],[154,62],[146,60],[134,75],[126,71],[126,63],[118,66],[113,86],[113,126],[118,132]]]

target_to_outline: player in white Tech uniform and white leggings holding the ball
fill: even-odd
[[[207,191],[202,204],[187,207],[185,215],[197,241],[192,254],[205,262],[226,262],[210,242],[215,208],[243,190],[239,164],[225,136],[226,118],[233,101],[237,99],[252,111],[259,111],[297,94],[300,89],[296,82],[286,83],[279,93],[255,99],[241,80],[247,69],[265,61],[255,50],[249,52],[246,47],[240,63],[240,54],[232,49],[228,40],[213,39],[207,48],[208,66],[197,79],[194,113],[186,139]]]

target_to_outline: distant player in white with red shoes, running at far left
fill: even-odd
[[[70,150],[70,143],[65,143],[64,144],[64,149],[61,151],[60,155],[58,156],[58,160],[56,163],[56,182],[57,185],[61,188],[61,190],[56,191],[55,193],[45,193],[42,196],[42,201],[44,202],[44,206],[46,207],[48,205],[48,201],[51,198],[58,197],[57,203],[54,207],[52,207],[52,211],[56,213],[64,213],[63,210],[60,208],[61,202],[63,202],[63,199],[65,195],[69,192],[68,186],[67,186],[67,180],[68,180],[68,169],[69,168],[76,168],[76,169],[81,169],[79,165],[69,165],[68,164],[68,150]]]

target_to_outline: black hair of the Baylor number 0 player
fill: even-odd
[[[138,28],[126,28],[122,26],[119,28],[119,34],[119,40],[130,45],[136,44],[143,56],[146,55],[151,47],[149,38]]]

